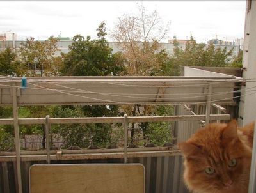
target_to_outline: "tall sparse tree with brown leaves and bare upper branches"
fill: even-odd
[[[168,65],[170,60],[159,42],[168,33],[169,24],[164,25],[156,11],[147,13],[143,5],[139,7],[138,15],[118,18],[111,36],[124,54],[129,75],[163,75],[161,66]],[[125,105],[122,111],[129,116],[147,116],[155,109],[152,105]],[[145,139],[148,123],[132,123],[131,144],[134,143],[135,127],[140,127]]]

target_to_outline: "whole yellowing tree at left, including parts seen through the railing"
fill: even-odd
[[[56,57],[55,54],[58,49],[58,38],[50,37],[45,41],[36,41],[35,38],[27,38],[26,42],[22,42],[20,45],[20,56],[22,64],[22,75],[28,76],[54,76],[60,75],[60,69],[62,68],[62,58]],[[49,107],[26,107],[29,116],[33,117],[45,117],[49,114],[51,108]],[[22,127],[25,133],[31,132],[31,130],[37,130],[42,135],[42,146],[45,148],[45,130],[44,125],[41,127]]]

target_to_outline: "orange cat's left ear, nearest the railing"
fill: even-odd
[[[180,151],[184,154],[186,158],[188,157],[200,157],[202,155],[201,149],[195,144],[191,143],[179,143]]]

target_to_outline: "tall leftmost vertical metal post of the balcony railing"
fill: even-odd
[[[13,126],[15,135],[15,150],[16,150],[16,167],[17,167],[17,179],[18,179],[18,191],[22,193],[22,180],[20,169],[20,133],[19,133],[19,121],[18,121],[18,104],[17,104],[17,90],[16,84],[13,82],[12,87],[12,107],[13,107]]]

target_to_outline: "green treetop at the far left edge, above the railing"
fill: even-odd
[[[19,75],[15,58],[16,54],[12,53],[9,48],[0,52],[0,75]]]

